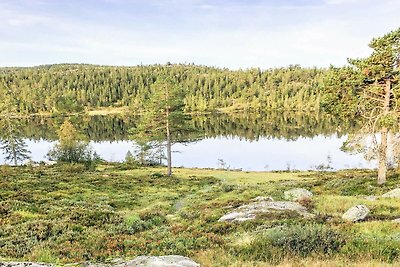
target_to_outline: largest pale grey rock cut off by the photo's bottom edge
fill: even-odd
[[[114,265],[116,267],[200,267],[193,260],[178,256],[139,256],[131,261]]]

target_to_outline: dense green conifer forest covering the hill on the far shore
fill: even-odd
[[[99,107],[143,108],[158,77],[185,90],[188,112],[318,110],[325,70],[289,66],[262,71],[166,64],[136,67],[46,65],[0,68],[0,96],[20,113],[68,113]]]

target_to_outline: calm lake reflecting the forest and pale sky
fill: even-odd
[[[16,122],[34,161],[46,160],[65,117],[33,117]],[[123,161],[134,150],[129,130],[137,118],[129,116],[74,116],[74,126],[107,161]],[[374,168],[361,154],[340,150],[357,126],[321,114],[210,114],[193,118],[199,139],[174,144],[173,166],[230,168],[245,171],[309,170],[318,165],[333,169]],[[0,155],[4,163],[4,155]]]

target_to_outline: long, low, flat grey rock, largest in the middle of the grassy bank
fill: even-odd
[[[269,213],[272,211],[295,211],[304,217],[313,215],[307,211],[307,208],[297,202],[290,201],[258,201],[238,207],[233,212],[222,216],[219,222],[243,222],[253,220],[257,214]]]

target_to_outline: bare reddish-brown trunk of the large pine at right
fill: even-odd
[[[385,101],[383,103],[383,115],[386,116],[390,112],[390,95],[392,93],[391,82],[386,80],[385,83]],[[387,143],[388,143],[389,129],[383,127],[381,129],[381,144],[378,149],[378,184],[384,184],[386,182],[386,170],[387,170]]]

